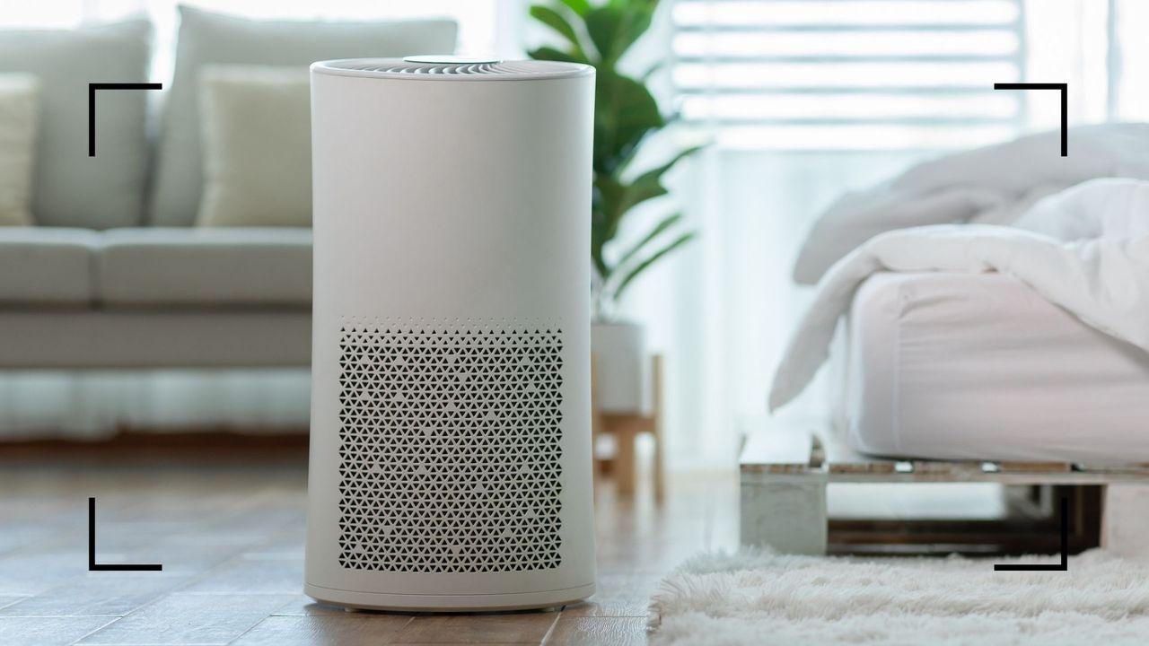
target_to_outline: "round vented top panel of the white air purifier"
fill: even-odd
[[[319,61],[311,64],[311,71],[412,80],[535,80],[588,76],[594,74],[594,68],[555,61],[498,61],[444,55]]]

